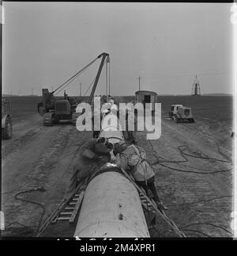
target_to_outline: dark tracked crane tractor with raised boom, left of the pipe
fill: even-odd
[[[100,78],[100,74],[102,71],[103,64],[105,63],[105,60],[109,62],[109,55],[106,52],[103,52],[99,56],[96,57],[96,59],[101,59],[100,67],[97,72],[96,78],[94,80],[94,84],[92,86],[92,92],[88,99],[88,104],[92,104],[92,100],[96,91],[96,86]],[[64,91],[64,98],[58,99],[54,96],[55,92],[62,91],[66,88],[72,82],[75,78],[77,78],[78,75],[81,75],[85,69],[87,69],[89,66],[92,65],[96,61],[96,59],[93,59],[91,63],[88,63],[85,67],[81,69],[81,71],[78,71],[75,75],[73,75],[71,78],[67,79],[66,82],[63,82],[62,85],[58,86],[58,88],[51,93],[48,89],[42,90],[42,102],[40,102],[37,106],[38,113],[40,116],[43,116],[43,124],[44,125],[53,125],[58,123],[60,120],[70,120],[73,124],[76,124],[77,117],[80,116],[81,113],[76,113],[77,108],[77,100],[73,97],[68,97],[66,94],[66,91]]]

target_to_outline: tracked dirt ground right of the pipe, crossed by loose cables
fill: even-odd
[[[138,145],[154,163],[167,215],[187,236],[231,235],[231,136],[221,133],[216,139],[222,128],[213,132],[203,120],[175,124],[163,118],[160,139],[148,141],[140,135]],[[150,232],[157,235],[157,227]],[[167,230],[162,235],[170,236]]]

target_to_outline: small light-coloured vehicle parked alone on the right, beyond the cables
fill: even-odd
[[[169,111],[169,117],[175,120],[176,123],[181,123],[188,121],[189,123],[194,123],[194,117],[192,115],[192,109],[184,107],[183,105],[171,105],[171,110]]]

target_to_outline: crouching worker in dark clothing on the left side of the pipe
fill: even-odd
[[[77,164],[73,168],[70,178],[70,185],[67,193],[73,192],[77,185],[92,174],[93,170],[98,170],[105,162],[111,159],[111,145],[107,139],[89,139],[85,142],[78,154]]]

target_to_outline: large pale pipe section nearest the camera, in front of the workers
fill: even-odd
[[[135,186],[122,174],[108,171],[89,182],[74,237],[149,237]]]

